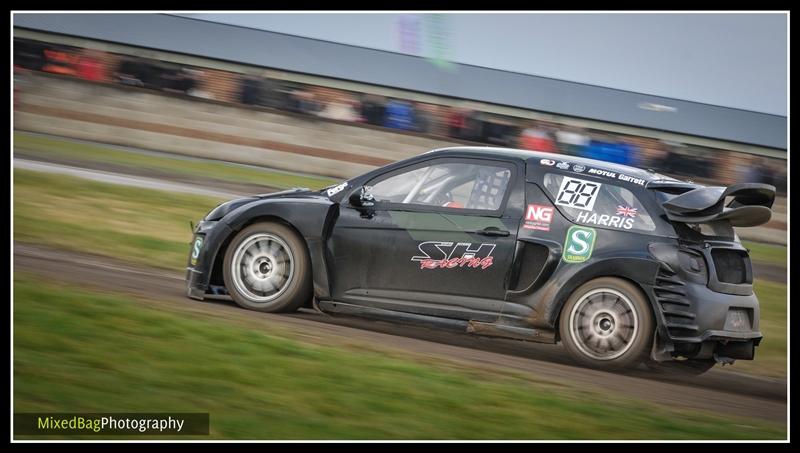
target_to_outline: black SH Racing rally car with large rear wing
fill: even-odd
[[[321,191],[219,205],[195,228],[187,294],[562,341],[591,366],[702,372],[753,359],[761,340],[733,227],[767,222],[774,197],[765,184],[440,149]]]

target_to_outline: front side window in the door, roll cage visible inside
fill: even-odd
[[[496,211],[511,170],[482,163],[442,162],[370,182],[376,202]]]

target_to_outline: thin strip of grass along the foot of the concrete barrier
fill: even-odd
[[[25,132],[14,132],[14,148],[42,158],[76,159],[276,188],[321,189],[339,182],[324,176],[300,175],[222,161],[125,151],[111,146]]]

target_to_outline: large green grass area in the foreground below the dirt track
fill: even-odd
[[[782,439],[779,423],[279,338],[17,275],[14,410],[211,414],[227,439]]]

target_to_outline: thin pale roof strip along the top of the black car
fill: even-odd
[[[583,157],[566,156],[556,153],[528,151],[525,149],[499,148],[493,146],[454,146],[448,148],[434,149],[432,151],[428,151],[425,154],[426,155],[441,154],[442,156],[474,155],[475,157],[502,156],[506,158],[519,159],[525,162],[535,162],[535,163],[539,163],[539,161],[541,161],[542,159],[549,159],[556,162],[568,162],[570,164],[579,164],[579,165],[584,165],[586,167],[594,167],[602,170],[624,173],[632,177],[642,178],[645,181],[655,181],[655,180],[677,181],[674,178],[664,176],[662,174],[653,171],[642,170],[641,168],[631,167],[628,165],[615,164],[612,162],[605,162],[596,159],[586,159]]]

